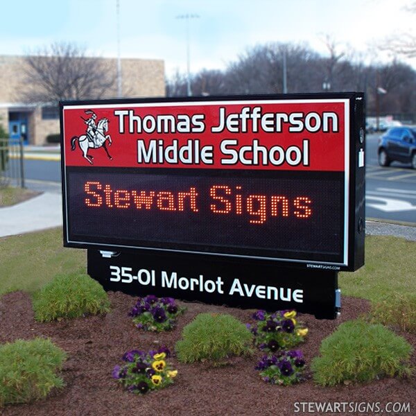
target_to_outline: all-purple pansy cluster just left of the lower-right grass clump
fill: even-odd
[[[257,363],[256,370],[260,370],[266,383],[290,385],[306,379],[304,357],[298,350],[265,355]]]

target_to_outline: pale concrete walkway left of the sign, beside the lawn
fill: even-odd
[[[0,237],[24,234],[62,225],[62,198],[42,193],[12,207],[0,208]]]

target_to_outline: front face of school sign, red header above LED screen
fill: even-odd
[[[351,267],[350,112],[345,97],[62,103],[64,244]]]

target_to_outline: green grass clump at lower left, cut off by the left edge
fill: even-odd
[[[66,357],[44,338],[0,345],[0,408],[44,399],[53,388],[62,388],[56,372]]]

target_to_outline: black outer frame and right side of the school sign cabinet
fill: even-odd
[[[191,97],[191,98],[146,98],[146,99],[126,99],[126,100],[107,100],[107,101],[67,101],[60,103],[61,116],[61,168],[62,168],[62,208],[64,215],[64,246],[73,248],[89,248],[96,250],[114,250],[123,252],[135,252],[139,254],[157,255],[165,252],[175,252],[174,248],[155,248],[155,247],[135,247],[123,244],[105,243],[103,241],[71,241],[69,239],[69,197],[68,182],[71,169],[65,166],[64,155],[64,128],[63,128],[63,109],[71,105],[103,105],[105,104],[131,104],[135,103],[187,103],[187,102],[209,102],[209,101],[259,101],[259,100],[312,100],[322,99],[331,100],[334,98],[345,99],[349,101],[349,166],[347,187],[348,187],[348,208],[345,215],[348,218],[347,236],[345,238],[347,250],[347,259],[344,261],[325,261],[325,259],[290,259],[290,258],[272,258],[268,256],[254,256],[263,261],[273,261],[279,266],[294,266],[297,268],[306,268],[310,270],[356,270],[363,265],[364,262],[364,225],[365,225],[365,169],[361,166],[360,157],[365,148],[365,116],[364,116],[364,100],[361,93],[331,93],[331,94],[285,94],[272,96],[221,96],[221,97]],[[90,169],[90,168],[89,168]],[[108,168],[96,168],[96,171],[109,172]],[[113,169],[112,171],[116,171]],[[296,173],[293,173],[295,176]],[[94,239],[94,237],[93,237]],[[182,252],[182,250],[176,250]],[[183,250],[193,259],[198,256],[211,255],[212,261],[220,258],[236,257],[238,259],[253,258],[250,255],[233,254],[227,252],[200,252],[198,250]]]

